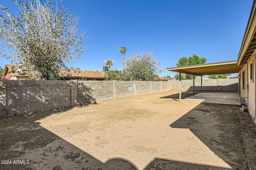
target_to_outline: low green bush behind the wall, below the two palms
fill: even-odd
[[[131,79],[126,71],[122,72],[120,70],[110,70],[105,73],[105,77],[105,80],[127,81]]]

